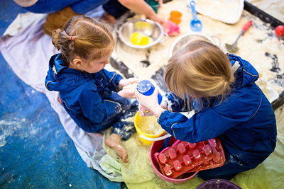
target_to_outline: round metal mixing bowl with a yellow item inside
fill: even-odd
[[[146,35],[149,38],[152,38],[153,41],[149,42],[148,45],[133,45],[131,42],[131,35],[134,32]],[[165,42],[168,40],[168,34],[163,32],[162,26],[159,23],[146,18],[135,18],[123,23],[118,28],[118,35],[121,42],[135,49],[146,49],[153,47],[159,42]],[[163,39],[164,35],[165,38]]]

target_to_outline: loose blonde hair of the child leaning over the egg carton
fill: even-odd
[[[231,92],[234,75],[229,58],[216,45],[204,40],[180,47],[165,67],[165,84],[190,107],[190,98],[203,108],[203,100],[221,98]]]

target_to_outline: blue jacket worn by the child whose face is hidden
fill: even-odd
[[[275,115],[271,103],[255,84],[256,69],[236,55],[229,55],[229,59],[232,65],[239,62],[240,67],[234,73],[231,93],[221,104],[218,98],[212,98],[207,108],[190,119],[166,110],[158,123],[182,141],[194,143],[218,137],[227,156],[234,156],[246,168],[254,168],[275,149]],[[180,106],[175,105],[175,109],[183,107],[182,101],[176,102]]]

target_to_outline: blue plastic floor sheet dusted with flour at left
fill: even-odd
[[[0,188],[121,188],[86,166],[45,95],[0,67]]]

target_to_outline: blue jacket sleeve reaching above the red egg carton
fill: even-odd
[[[164,130],[176,139],[190,143],[218,137],[239,122],[239,120],[220,115],[211,107],[195,113],[190,119],[181,113],[170,113],[168,110],[161,113],[158,118],[158,123]]]

